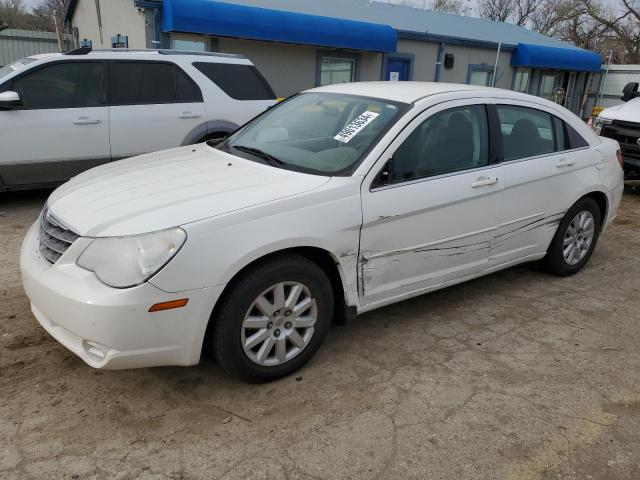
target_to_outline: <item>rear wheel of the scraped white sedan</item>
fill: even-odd
[[[582,217],[580,217],[582,216]],[[591,228],[582,228],[580,227],[580,218],[586,219],[587,222],[585,226]],[[589,222],[590,220],[590,222]],[[578,222],[578,223],[574,223]],[[590,225],[592,223],[592,225]],[[579,228],[575,228],[575,227]],[[576,202],[565,214],[564,218],[560,222],[558,226],[558,230],[551,241],[551,245],[547,250],[547,255],[544,257],[542,264],[545,269],[554,275],[558,275],[560,277],[566,277],[569,275],[573,275],[574,273],[579,272],[582,268],[587,264],[589,258],[591,258],[591,254],[598,243],[598,238],[600,236],[600,228],[602,226],[602,218],[600,213],[600,208],[595,200],[589,197],[584,197]],[[571,229],[571,231],[569,231]],[[589,236],[589,231],[592,231],[591,240],[588,242],[588,245],[585,240],[580,240],[580,238],[587,238]],[[576,235],[577,234],[577,242]],[[573,238],[573,242],[569,242],[569,240]],[[565,241],[569,242],[565,246]],[[568,260],[565,257],[565,248],[570,249],[573,245],[573,250],[568,250]]]

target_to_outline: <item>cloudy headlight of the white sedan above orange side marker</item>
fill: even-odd
[[[96,238],[78,257],[78,266],[90,270],[109,286],[140,285],[164,267],[187,239],[181,228],[128,237]]]

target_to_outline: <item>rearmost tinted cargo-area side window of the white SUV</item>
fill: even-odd
[[[253,65],[195,62],[193,66],[236,100],[276,98],[271,86]]]

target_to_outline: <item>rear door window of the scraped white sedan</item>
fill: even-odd
[[[498,105],[505,160],[554,151],[551,115],[535,108]]]

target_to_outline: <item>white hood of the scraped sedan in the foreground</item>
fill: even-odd
[[[134,235],[300,195],[329,179],[200,144],[88,170],[53,192],[47,208],[82,236]]]

